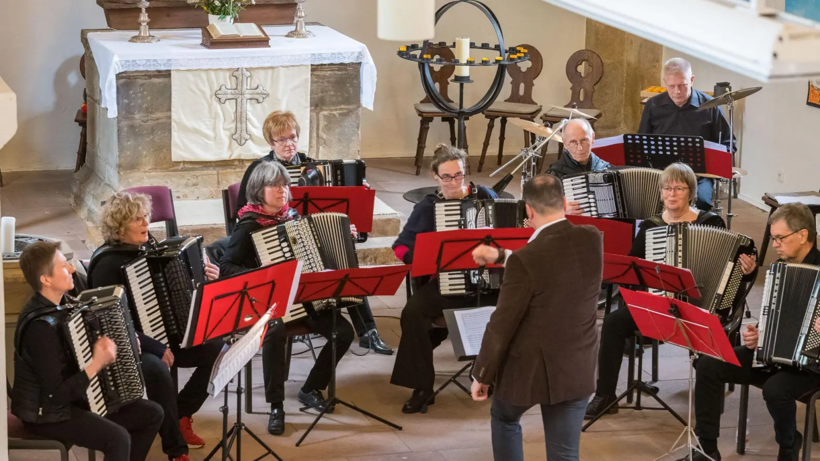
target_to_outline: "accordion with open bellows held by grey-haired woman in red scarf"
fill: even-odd
[[[356,245],[350,235],[350,218],[343,213],[322,212],[297,217],[278,226],[256,230],[251,237],[262,266],[298,259],[302,262],[302,273],[358,267]],[[321,300],[294,304],[282,322],[315,316],[334,302]]]

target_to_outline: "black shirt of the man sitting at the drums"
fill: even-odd
[[[700,105],[712,99],[697,89],[692,89],[689,102],[681,107],[663,92],[646,102],[640,117],[638,133],[642,135],[683,135],[700,136],[704,140],[729,147],[729,122],[721,107],[699,109]],[[737,144],[735,144],[737,150]]]

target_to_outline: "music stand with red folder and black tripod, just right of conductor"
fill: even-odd
[[[654,288],[658,290],[672,291],[676,294],[687,294],[693,298],[699,298],[700,292],[695,285],[695,278],[689,269],[681,267],[668,266],[667,264],[659,264],[656,262],[649,262],[645,259],[632,258],[629,256],[622,256],[612,253],[604,253],[604,281],[612,284],[622,285],[641,285],[647,288]],[[624,289],[621,288],[621,291]],[[651,294],[656,298],[667,299],[665,296],[658,296]],[[650,336],[651,337],[651,336]],[[656,338],[657,339],[657,338]],[[634,340],[634,339],[633,339]],[[635,345],[630,340],[631,350],[635,349]],[[643,342],[643,334],[638,331],[638,341]],[[671,413],[678,421],[686,426],[686,421],[679,414],[675,412],[666,402],[658,397],[658,388],[643,381],[643,364],[644,354],[638,356],[638,374],[634,380],[631,381],[626,390],[617,396],[611,404],[607,405],[601,413],[596,414],[594,418],[590,419],[581,431],[586,431],[594,422],[598,421],[605,413],[608,412],[614,405],[619,405],[623,399],[630,399],[633,392],[637,391],[635,396],[634,406],[619,406],[620,409],[635,409],[641,410],[666,410]],[[660,407],[645,407],[640,403],[641,394],[646,393],[660,404]]]

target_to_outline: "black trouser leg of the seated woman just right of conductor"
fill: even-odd
[[[617,375],[621,371],[626,341],[635,335],[638,326],[629,309],[621,303],[616,311],[604,317],[601,345],[598,348],[598,384],[595,395],[611,397],[617,390]]]

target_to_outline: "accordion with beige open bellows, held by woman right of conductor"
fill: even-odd
[[[732,230],[702,224],[681,223],[646,230],[645,259],[692,272],[700,299],[690,300],[716,314],[725,326],[734,307],[745,296],[740,290],[743,268],[740,254],[754,254],[754,242]],[[649,290],[661,294],[662,290]]]

